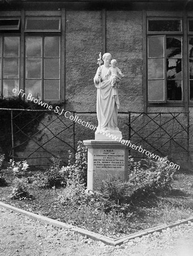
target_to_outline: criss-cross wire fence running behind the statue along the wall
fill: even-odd
[[[0,112],[4,113],[7,120],[1,119],[2,151],[7,151],[7,155],[14,160],[27,159],[32,165],[47,166],[51,156],[60,156],[68,163],[68,151],[75,152],[77,141],[93,136],[91,131],[66,118],[64,114],[51,110],[0,109]],[[97,126],[95,112],[70,113],[80,118],[84,115]],[[132,143],[160,156],[167,155],[169,159],[178,162],[186,160],[189,163],[188,112],[122,112],[119,117],[124,123],[121,127],[123,136]],[[3,134],[6,134],[5,138]],[[136,158],[145,157],[131,148],[129,151]]]

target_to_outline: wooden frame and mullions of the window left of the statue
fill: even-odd
[[[60,53],[59,53],[59,78],[58,78],[58,98],[59,100],[44,100],[43,94],[41,94],[42,101],[51,102],[52,104],[61,104],[65,101],[65,10],[61,11],[10,11],[9,16],[3,12],[0,12],[0,19],[20,19],[20,27],[19,30],[3,30],[0,31],[0,36],[19,36],[20,37],[20,57],[19,57],[19,89],[22,89],[25,92],[26,85],[26,44],[25,38],[26,35],[30,36],[59,36],[60,40]],[[26,32],[24,28],[26,26],[26,18],[34,18],[34,19],[57,19],[60,24],[60,31],[45,30]],[[2,47],[1,47],[2,48]],[[44,57],[43,57],[44,59]],[[3,64],[0,65],[0,69],[3,69]],[[1,71],[1,70],[0,70]],[[1,71],[2,72],[2,71]],[[0,98],[7,97],[3,95],[3,79],[0,82]],[[44,90],[44,87],[41,86],[41,92]],[[49,96],[49,94],[48,94]],[[10,95],[9,97],[12,97]],[[24,100],[24,97],[21,96]]]

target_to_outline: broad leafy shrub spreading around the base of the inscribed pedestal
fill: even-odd
[[[163,190],[168,191],[175,172],[162,162],[151,162],[149,159],[134,162],[130,157],[127,182],[108,175],[108,179],[102,181],[101,193],[86,193],[84,183],[79,182],[82,179],[74,175],[79,171],[75,164],[64,167],[61,171],[72,177],[68,179],[66,188],[59,195],[62,204],[87,204],[105,213],[114,212],[124,216],[131,214],[129,210],[133,204]]]

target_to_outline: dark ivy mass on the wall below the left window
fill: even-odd
[[[44,109],[43,106],[35,104],[31,101],[23,101],[18,97],[0,99],[0,153],[5,154],[8,160],[11,155],[12,148],[12,131],[11,131],[11,110],[2,109]],[[38,132],[38,126],[41,119],[47,112],[29,112],[21,110],[12,110],[12,117],[14,125],[14,144],[21,144],[17,147],[18,151],[24,151],[28,144],[28,136]],[[16,127],[18,126],[22,131]],[[15,154],[16,156],[16,154]]]

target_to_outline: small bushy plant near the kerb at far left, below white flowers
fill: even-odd
[[[26,179],[16,178],[13,181],[13,185],[11,199],[31,200],[33,198],[27,190]]]

